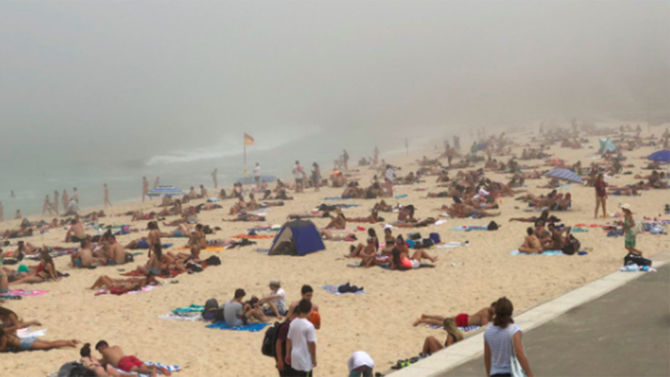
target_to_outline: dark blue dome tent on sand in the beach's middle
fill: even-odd
[[[291,241],[295,244],[295,251],[287,253],[282,246],[283,242]],[[285,245],[285,244],[283,244]],[[308,220],[288,221],[274,237],[268,255],[295,255],[306,256],[315,251],[325,250],[319,230],[313,222]]]

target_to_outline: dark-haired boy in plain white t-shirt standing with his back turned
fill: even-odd
[[[286,364],[295,370],[296,377],[313,377],[316,367],[316,330],[307,320],[312,303],[301,300],[298,318],[291,321],[286,340]]]

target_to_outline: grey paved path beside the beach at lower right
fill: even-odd
[[[567,311],[523,339],[538,377],[670,376],[670,264]],[[440,376],[485,374],[484,360],[477,357]]]

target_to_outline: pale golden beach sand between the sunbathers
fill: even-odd
[[[599,125],[602,126],[602,125]],[[537,125],[535,126],[537,127]],[[496,134],[505,130],[497,130]],[[662,127],[652,128],[652,133],[659,136]],[[489,132],[493,132],[489,130]],[[537,134],[537,128],[535,128]],[[627,133],[634,135],[634,133]],[[643,131],[642,136],[650,135]],[[530,133],[509,134],[516,142],[512,151],[517,156],[530,142]],[[566,163],[582,161],[590,164],[590,156],[597,154],[598,138],[590,136],[582,149],[569,149],[559,144],[551,146],[547,153],[552,157],[562,158]],[[471,142],[470,142],[471,143]],[[442,152],[433,145],[424,150],[412,151],[409,156],[399,156],[391,163],[402,168],[399,175],[416,171],[415,161],[423,156],[438,158]],[[464,139],[461,142],[461,153],[466,153],[470,144]],[[533,144],[537,147],[539,143]],[[374,146],[371,146],[371,149]],[[634,168],[625,168],[634,174],[648,175],[650,170],[641,170],[647,161],[644,156],[657,149],[643,147],[634,151],[625,151],[626,163]],[[287,151],[287,153],[290,151]],[[301,158],[305,157],[296,156]],[[307,156],[308,157],[308,156]],[[359,156],[352,156],[357,161]],[[507,161],[509,156],[500,157]],[[446,158],[440,160],[446,165]],[[457,161],[457,160],[456,160]],[[308,158],[305,158],[305,165]],[[262,163],[262,161],[261,161]],[[522,163],[537,166],[537,170],[549,170],[543,159],[523,161]],[[350,165],[353,165],[350,162]],[[478,163],[475,168],[482,168]],[[665,165],[667,166],[667,165]],[[290,166],[286,169],[285,178],[290,178]],[[325,172],[329,167],[323,167]],[[353,167],[362,186],[368,186],[376,172],[368,167]],[[470,168],[472,169],[472,168]],[[466,169],[466,170],[470,170]],[[455,174],[458,170],[453,170]],[[509,174],[486,172],[486,177],[493,181],[509,181]],[[139,182],[141,177],[137,177]],[[399,200],[391,200],[393,204],[415,205],[417,219],[427,216],[438,218],[442,205],[450,205],[451,198],[426,198],[426,193],[441,191],[437,188],[435,177],[425,177],[421,184],[396,186],[395,194],[407,194]],[[606,180],[608,184],[631,184],[639,181],[632,175],[616,175]],[[549,193],[549,189],[536,188],[546,184],[547,179],[526,180],[528,192],[537,195]],[[169,183],[169,182],[165,182]],[[196,182],[194,182],[194,185]],[[210,184],[211,186],[211,184]],[[271,184],[274,188],[274,184]],[[229,187],[226,187],[228,190]],[[425,191],[417,191],[425,188]],[[213,190],[209,188],[210,192]],[[223,222],[230,219],[228,215],[233,200],[224,200],[220,204],[223,209],[204,211],[198,215],[200,223],[209,226],[220,226],[223,230],[209,239],[225,238],[245,234],[247,228],[264,224],[281,225],[292,212],[313,210],[323,198],[341,195],[343,188],[324,187],[315,193],[313,188],[305,193],[291,195],[295,200],[286,201],[283,207],[271,207],[266,212],[265,223],[232,223]],[[571,184],[569,189],[560,192],[572,193],[572,208],[567,212],[555,212],[561,223],[574,226],[578,223],[600,224],[612,223],[610,219],[593,219],[595,207],[593,187]],[[88,195],[93,195],[89,193]],[[637,197],[611,196],[608,201],[609,212],[617,211],[618,202],[627,202],[634,208],[634,216],[641,220],[643,216],[668,219],[670,214],[663,214],[663,206],[669,202],[666,190],[643,191]],[[377,200],[343,200],[359,207],[345,209],[347,217],[367,216]],[[389,200],[387,200],[389,201]],[[192,202],[201,203],[203,200]],[[337,201],[334,201],[337,202]],[[191,204],[191,203],[189,203]],[[148,212],[158,200],[145,203],[132,202],[105,209],[107,214],[119,214],[134,209]],[[519,207],[519,208],[515,208]],[[209,253],[203,251],[202,256],[216,255],[221,258],[222,265],[209,267],[197,274],[181,274],[174,279],[166,279],[165,284],[150,292],[126,295],[99,295],[87,290],[88,286],[101,275],[118,277],[119,269],[125,272],[134,269],[135,265],[147,261],[146,252],[135,257],[133,265],[98,267],[97,269],[75,269],[71,267],[69,258],[55,258],[59,271],[70,274],[59,282],[46,282],[34,286],[12,286],[12,289],[26,288],[48,290],[40,297],[24,297],[23,300],[10,301],[3,304],[27,320],[39,320],[42,327],[48,329],[43,339],[79,339],[82,342],[96,343],[105,339],[110,344],[117,344],[126,353],[137,355],[141,360],[177,364],[182,370],[175,374],[187,376],[276,376],[275,362],[271,357],[261,354],[260,347],[264,332],[234,332],[210,330],[204,323],[177,320],[164,320],[159,316],[180,306],[204,304],[210,298],[216,298],[220,304],[232,298],[236,288],[244,288],[248,294],[262,297],[268,294],[267,283],[271,279],[281,280],[287,293],[287,300],[298,300],[299,290],[303,284],[315,289],[313,302],[320,306],[322,325],[318,336],[318,376],[343,376],[347,373],[348,357],[357,350],[365,350],[373,357],[377,365],[375,371],[386,371],[399,359],[418,355],[424,338],[435,335],[444,338],[444,332],[425,327],[412,327],[412,322],[420,313],[432,313],[453,316],[458,313],[473,313],[501,296],[509,297],[514,302],[516,312],[526,310],[539,303],[556,297],[562,293],[583,286],[590,281],[616,271],[626,255],[623,237],[606,237],[600,228],[590,228],[588,232],[578,233],[582,249],[588,251],[586,256],[510,256],[510,251],[517,249],[526,235],[528,223],[509,222],[512,217],[528,217],[537,213],[523,212],[523,202],[514,198],[502,198],[500,211],[502,214],[493,220],[501,225],[494,232],[488,231],[454,231],[459,226],[486,226],[491,219],[446,219],[447,223],[440,226],[429,226],[419,230],[395,229],[394,235],[406,235],[418,231],[428,236],[430,232],[439,233],[442,242],[470,242],[469,246],[454,249],[429,249],[431,255],[439,256],[435,268],[423,268],[398,272],[380,267],[370,269],[348,267],[348,260],[343,257],[348,253],[350,242],[325,241],[326,250],[312,253],[305,257],[267,256],[255,252],[257,248],[267,249],[271,239],[258,240],[258,244],[244,246],[239,249]],[[88,213],[96,208],[82,209]],[[8,214],[5,214],[8,217]],[[395,221],[396,214],[382,213],[387,220]],[[174,219],[168,217],[168,221]],[[29,216],[31,221],[42,219],[41,216]],[[51,217],[45,216],[49,221]],[[141,232],[119,236],[121,244],[131,239],[146,235],[144,229],[147,221],[131,222],[130,216],[107,216],[100,220],[105,225],[131,224]],[[313,219],[318,226],[325,226],[328,219]],[[19,221],[0,223],[0,230],[17,228]],[[354,226],[355,224],[350,224]],[[368,227],[368,224],[356,224]],[[378,235],[382,235],[384,223],[373,225]],[[172,230],[161,226],[161,230]],[[87,228],[87,232],[92,232]],[[43,235],[36,235],[24,240],[36,245],[74,246],[65,244],[66,230],[50,230]],[[364,232],[357,232],[359,240],[364,239]],[[13,239],[16,241],[16,239]],[[186,244],[186,239],[165,239],[174,246],[171,251]],[[355,243],[357,244],[357,242]],[[667,235],[649,235],[644,233],[637,238],[638,249],[645,256],[653,256],[670,247]],[[3,248],[11,250],[12,248]],[[28,261],[27,265],[36,265]],[[362,295],[336,296],[319,288],[324,285],[339,285],[350,282],[363,286],[366,290]],[[50,350],[48,352],[22,352],[3,354],[0,356],[0,370],[6,376],[45,376],[53,373],[69,361],[79,359],[79,349]]]

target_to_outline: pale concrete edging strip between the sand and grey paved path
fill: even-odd
[[[651,258],[653,267],[661,267],[670,261],[670,252],[657,253]],[[576,288],[565,295],[556,297],[539,304],[519,316],[514,316],[514,323],[524,332],[557,318],[561,314],[605,295],[606,293],[624,286],[629,281],[639,278],[648,272],[614,272],[601,279]],[[431,377],[440,376],[445,372],[458,367],[484,354],[484,332],[480,331],[449,348],[440,350],[424,360],[412,364],[391,374],[393,377]],[[482,369],[484,362],[482,361]]]

